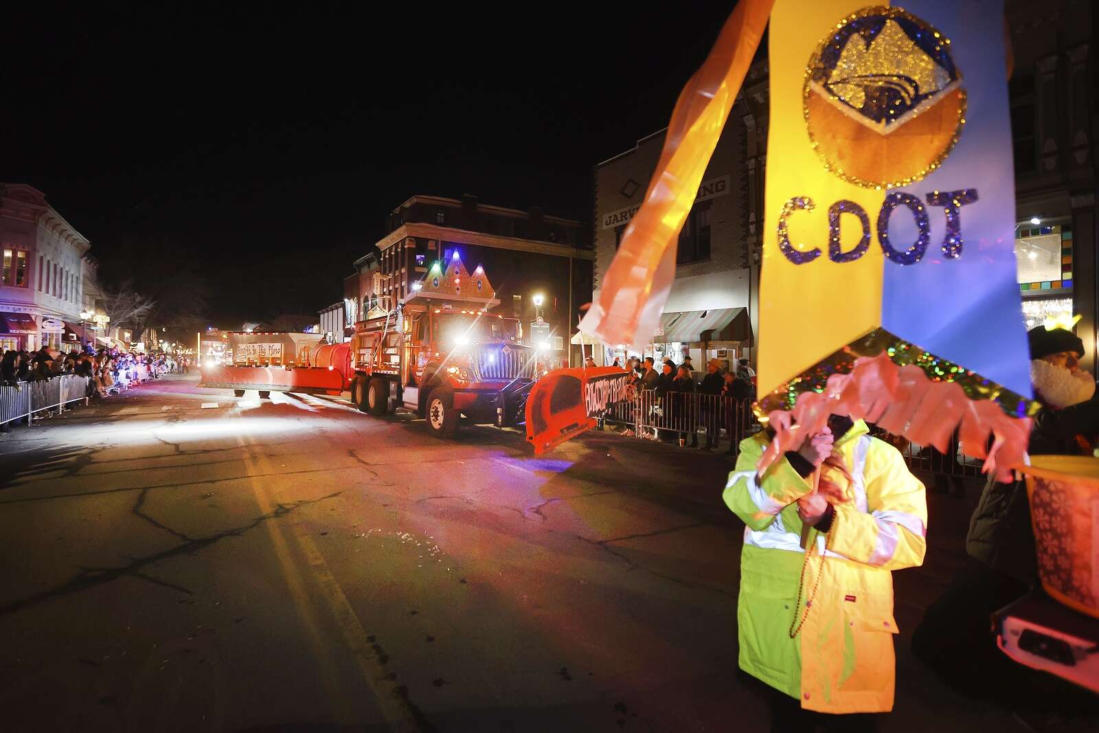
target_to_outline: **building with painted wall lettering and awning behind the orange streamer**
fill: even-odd
[[[679,235],[676,279],[664,315],[645,354],[699,366],[717,358],[726,366],[751,354],[758,282],[758,222],[763,210],[766,125],[766,64],[756,63],[702,176],[695,206]],[[753,102],[759,93],[758,101]],[[763,113],[761,113],[763,110]],[[630,220],[637,212],[664,145],[665,131],[595,169],[595,287],[606,276]],[[600,355],[626,356],[610,345]]]

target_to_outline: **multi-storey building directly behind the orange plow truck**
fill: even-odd
[[[578,221],[541,210],[519,211],[462,200],[414,196],[393,210],[388,232],[355,263],[344,282],[345,320],[371,308],[393,308],[419,288],[436,262],[480,265],[496,287],[497,312],[518,318],[525,341],[550,360],[575,360],[569,346],[581,307],[591,302],[593,254]]]

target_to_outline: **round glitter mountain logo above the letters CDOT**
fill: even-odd
[[[965,124],[966,93],[950,38],[900,8],[837,22],[809,59],[806,125],[825,169],[893,188],[942,165]]]

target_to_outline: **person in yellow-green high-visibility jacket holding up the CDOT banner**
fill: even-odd
[[[759,433],[741,443],[725,486],[725,503],[747,525],[740,666],[788,696],[776,696],[773,730],[786,729],[778,718],[793,724],[813,717],[804,711],[892,709],[890,571],[923,563],[928,507],[923,485],[897,448],[867,433],[862,420],[832,415],[829,427],[763,478],[756,464],[768,436]],[[812,526],[808,551],[801,548],[804,524]]]

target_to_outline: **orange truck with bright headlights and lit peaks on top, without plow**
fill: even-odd
[[[462,417],[515,424],[541,366],[520,322],[491,312],[500,301],[484,269],[470,274],[455,257],[417,285],[396,308],[356,323],[355,404],[376,415],[404,407],[441,437],[454,435]]]

